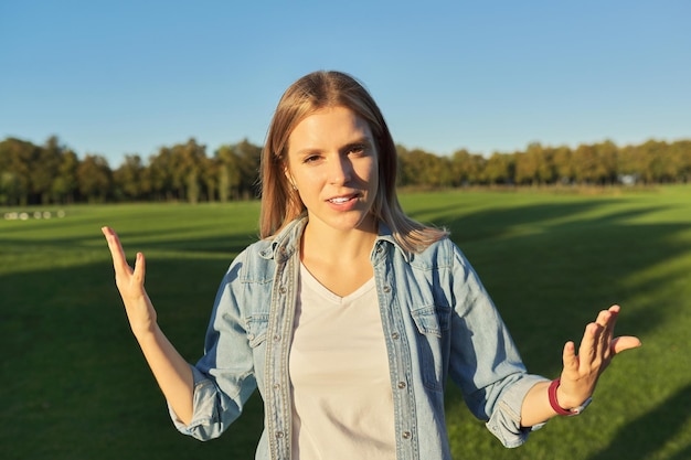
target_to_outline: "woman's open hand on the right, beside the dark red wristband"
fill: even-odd
[[[574,342],[564,345],[564,370],[556,391],[561,407],[568,409],[583,404],[593,395],[597,379],[612,359],[625,350],[641,345],[636,336],[614,336],[618,314],[619,306],[600,311],[595,322],[586,325],[578,354]]]

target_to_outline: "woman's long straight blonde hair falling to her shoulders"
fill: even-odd
[[[398,244],[408,252],[419,253],[446,236],[446,231],[405,215],[396,195],[396,148],[384,117],[355,78],[334,71],[305,75],[286,89],[276,107],[262,151],[261,236],[270,238],[307,211],[285,174],[288,139],[300,121],[327,107],[346,107],[369,124],[379,160],[379,189],[372,214],[391,228]]]

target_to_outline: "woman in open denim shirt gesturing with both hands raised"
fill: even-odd
[[[619,307],[563,351],[560,379],[525,372],[471,266],[444,231],[408,218],[380,109],[354,78],[316,72],[281,97],[262,158],[263,239],[219,289],[205,354],[189,365],[104,227],[135,336],[178,428],[214,438],[258,388],[257,459],[449,459],[449,376],[507,447],[580,413],[612,357]]]

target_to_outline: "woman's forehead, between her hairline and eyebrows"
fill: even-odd
[[[364,139],[372,139],[366,120],[347,107],[326,107],[298,122],[288,138],[288,149],[326,148]]]

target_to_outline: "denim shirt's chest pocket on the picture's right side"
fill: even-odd
[[[444,338],[448,332],[450,308],[428,304],[411,310],[417,334],[412,346],[417,353],[423,384],[435,392],[444,391]]]

